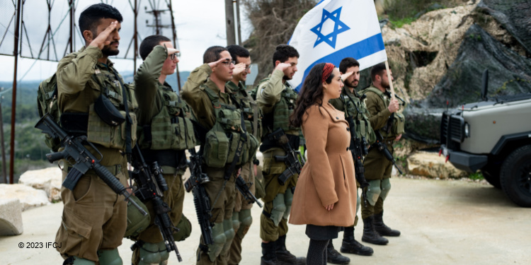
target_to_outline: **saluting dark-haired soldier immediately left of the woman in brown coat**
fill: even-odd
[[[298,175],[292,175],[282,185],[278,176],[286,170],[286,164],[275,160],[275,155],[286,155],[273,139],[268,137],[282,129],[293,150],[299,148],[300,128],[290,126],[289,116],[295,109],[297,93],[286,83],[297,71],[299,53],[290,45],[278,45],[273,54],[275,69],[268,78],[258,84],[256,102],[263,112],[263,129],[260,151],[263,153],[263,178],[265,196],[260,216],[260,237],[262,238],[261,264],[306,264],[306,258],[295,257],[286,249],[287,217],[290,215],[293,191]]]

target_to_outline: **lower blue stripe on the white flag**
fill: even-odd
[[[322,57],[321,59],[314,61],[313,64],[310,64],[308,68],[304,70],[304,76],[302,76],[302,82],[299,84],[299,86],[295,88],[295,91],[299,93],[299,90],[302,88],[302,84],[304,83],[304,79],[306,79],[309,71],[316,64],[332,63],[336,67],[338,67],[341,60],[345,57],[353,57],[354,59],[359,60],[371,54],[375,54],[379,51],[382,51],[384,49],[385,49],[385,46],[384,46],[384,40],[382,38],[382,33],[378,33],[377,35],[368,37],[365,40],[356,42],[353,45],[340,49],[337,52],[333,52],[332,54],[326,55],[325,57]]]

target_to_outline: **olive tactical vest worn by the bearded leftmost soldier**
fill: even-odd
[[[114,71],[109,69],[109,71]],[[137,116],[135,109],[138,107],[135,98],[134,86],[130,84],[123,84],[118,78],[122,78],[120,74],[96,71],[91,78],[98,86],[91,89],[98,90],[98,93],[105,95],[110,102],[119,110],[122,117],[125,117],[125,104],[122,95],[122,85],[125,86],[127,93],[127,108],[131,118],[131,145],[135,146],[137,141]],[[89,89],[89,86],[87,86]],[[106,148],[125,149],[126,142],[126,126],[127,122],[122,122],[116,126],[109,125],[101,119],[94,110],[95,102],[89,105],[89,113],[73,113],[65,112],[61,115],[61,126],[65,131],[71,134],[86,134],[87,141],[97,143]]]

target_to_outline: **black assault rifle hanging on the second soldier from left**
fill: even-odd
[[[132,165],[135,167],[135,171],[132,172],[131,177],[135,179],[139,187],[135,195],[142,201],[152,202],[155,212],[154,224],[161,231],[166,251],[175,251],[178,261],[181,262],[183,259],[173,239],[173,231],[178,231],[178,228],[171,223],[168,215],[171,208],[162,199],[164,197],[163,192],[168,190],[168,184],[162,175],[161,167],[156,161],[152,163],[151,167],[148,167],[138,145],[132,151],[132,158]]]

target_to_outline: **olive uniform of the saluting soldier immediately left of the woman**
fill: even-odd
[[[290,139],[297,139],[292,145],[299,148],[299,128],[289,126],[289,116],[295,108],[297,93],[289,85],[282,83],[284,72],[275,70],[258,84],[256,102],[263,112],[264,136],[260,151],[263,153],[263,179],[265,196],[263,212],[260,216],[260,237],[267,242],[278,240],[287,234],[287,217],[290,216],[293,190],[298,175],[292,175],[284,185],[278,182],[278,176],[286,170],[286,164],[276,161],[275,155],[286,155],[285,151],[268,141],[267,135],[282,128]],[[295,146],[296,145],[296,146]]]

